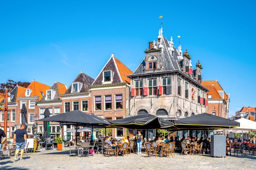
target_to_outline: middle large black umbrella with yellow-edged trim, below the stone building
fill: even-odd
[[[114,126],[128,129],[173,129],[178,130],[172,122],[163,120],[151,114],[130,116],[110,121]]]

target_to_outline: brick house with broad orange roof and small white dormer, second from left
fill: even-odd
[[[37,81],[32,81],[30,85],[26,88],[19,97],[17,97],[17,118],[15,119],[16,125],[19,127],[21,124],[21,108],[22,104],[25,104],[27,107],[27,121],[28,121],[28,134],[32,134],[32,125],[34,124],[34,116],[39,115],[39,108],[37,102],[40,101],[47,89],[50,89],[51,86],[39,83]]]

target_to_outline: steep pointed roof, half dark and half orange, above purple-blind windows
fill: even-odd
[[[132,71],[127,68],[122,62],[117,60],[117,58],[114,57],[114,54],[111,55],[109,58],[109,61],[105,64],[105,66],[102,68],[101,72],[95,79],[92,85],[101,85],[103,80],[103,71],[112,70],[113,71],[113,82],[112,84],[116,83],[129,83],[130,79],[126,77],[126,75],[131,74]]]

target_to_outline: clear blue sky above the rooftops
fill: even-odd
[[[83,70],[96,78],[111,53],[134,71],[148,42],[181,36],[203,80],[230,93],[229,116],[256,107],[255,1],[1,1],[0,82],[67,87]]]

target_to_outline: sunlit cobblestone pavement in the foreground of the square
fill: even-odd
[[[42,150],[24,154],[25,160],[14,162],[14,156],[0,160],[0,169],[255,169],[256,156],[212,157],[211,155],[181,155],[172,157],[146,157],[142,153],[129,156],[104,157],[95,154],[89,157],[68,156],[69,149],[62,151]],[[18,157],[19,158],[19,157]]]

